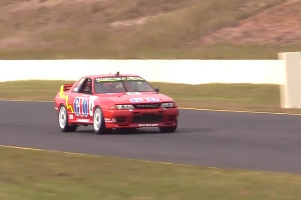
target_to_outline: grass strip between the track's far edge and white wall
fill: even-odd
[[[0,82],[0,99],[53,101],[62,84],[73,82],[61,80]],[[281,109],[279,85],[185,85],[158,82],[151,84],[160,88],[161,93],[172,97],[180,107],[301,113],[299,109]]]

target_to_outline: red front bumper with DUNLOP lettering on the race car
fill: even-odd
[[[103,110],[107,128],[172,127],[177,125],[177,108]]]

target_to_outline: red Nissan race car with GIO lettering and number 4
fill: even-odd
[[[174,100],[132,74],[84,76],[62,85],[54,104],[62,132],[92,125],[96,134],[142,127],[158,127],[167,133],[178,126]]]

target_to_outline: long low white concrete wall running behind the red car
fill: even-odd
[[[0,60],[0,81],[134,73],[151,82],[284,84],[283,60]]]

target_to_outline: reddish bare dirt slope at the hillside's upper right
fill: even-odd
[[[301,44],[301,1],[287,1],[202,37],[200,43]]]

